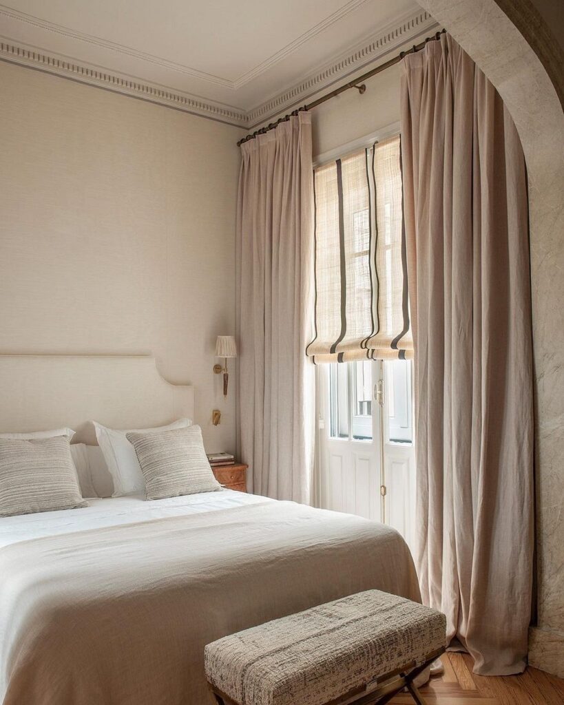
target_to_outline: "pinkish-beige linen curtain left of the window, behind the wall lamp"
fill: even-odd
[[[309,503],[314,444],[309,113],[244,142],[237,213],[238,436],[250,491]]]

